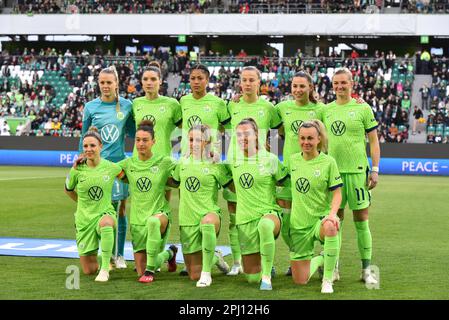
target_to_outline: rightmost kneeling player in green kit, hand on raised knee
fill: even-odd
[[[290,157],[292,213],[290,259],[293,281],[307,284],[324,264],[322,293],[332,293],[332,277],[339,254],[337,237],[342,180],[337,164],[326,155],[327,138],[319,120],[304,122],[299,129],[302,152]],[[324,244],[324,254],[313,257],[314,242]]]

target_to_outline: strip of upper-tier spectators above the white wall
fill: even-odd
[[[402,13],[448,13],[447,1],[382,1],[382,0],[18,0],[16,14],[104,13],[104,14],[180,14],[180,13],[382,13],[396,7]]]

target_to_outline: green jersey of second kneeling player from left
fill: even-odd
[[[126,173],[131,193],[130,221],[146,225],[148,217],[159,212],[170,212],[165,199],[165,187],[174,169],[174,161],[167,156],[154,154],[142,161],[138,156],[118,163]]]

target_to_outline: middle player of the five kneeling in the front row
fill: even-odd
[[[218,206],[218,188],[232,181],[224,164],[217,163],[210,151],[209,127],[195,125],[188,132],[189,149],[173,173],[173,186],[180,188],[179,226],[182,251],[191,280],[197,287],[212,283],[215,264],[223,273],[229,266],[216,250],[222,213]]]

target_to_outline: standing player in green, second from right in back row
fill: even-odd
[[[293,76],[291,93],[294,100],[283,101],[276,105],[276,110],[283,123],[280,135],[284,136],[283,162],[285,166],[288,166],[290,156],[300,151],[298,129],[301,124],[312,119],[323,120],[324,108],[324,104],[315,99],[312,77],[305,71],[298,71]],[[285,186],[277,187],[276,197],[283,211],[281,236],[287,246],[290,247],[288,230],[290,227],[292,194],[288,182]],[[287,275],[291,275],[290,267]]]

